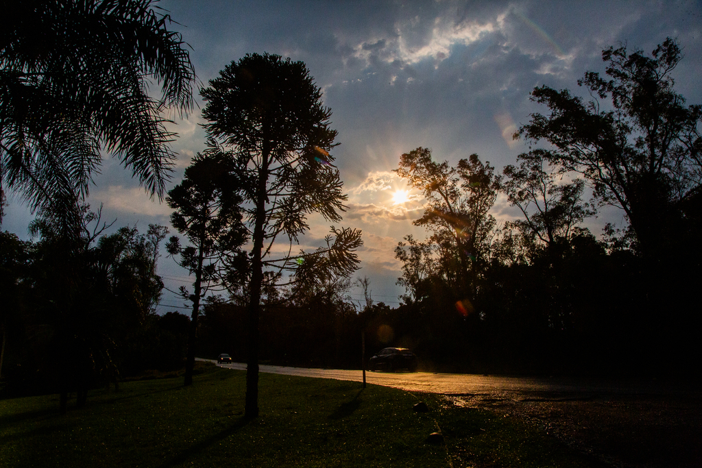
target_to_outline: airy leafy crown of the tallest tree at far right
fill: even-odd
[[[672,72],[681,58],[670,38],[650,57],[609,47],[602,52],[609,79],[588,72],[578,81],[592,100],[534,88],[531,99],[550,114],[532,114],[516,134],[550,143],[545,159],[583,175],[601,204],[622,208],[637,249],[649,257],[675,243],[682,206],[699,206],[702,106],[685,106],[675,93]]]

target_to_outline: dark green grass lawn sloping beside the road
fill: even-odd
[[[358,382],[260,374],[260,417],[244,419],[245,373],[205,365],[182,378],[0,401],[0,467],[598,467],[494,413]],[[412,406],[423,399],[428,413]],[[427,442],[444,433],[446,445]]]

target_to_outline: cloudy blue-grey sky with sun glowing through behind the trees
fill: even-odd
[[[175,21],[190,46],[197,74],[193,112],[169,128],[178,132],[178,161],[168,189],[180,182],[194,154],[204,149],[203,102],[197,93],[232,61],[246,53],[274,53],[302,60],[331,108],[338,131],[332,151],[348,194],[337,227],[362,229],[358,251],[375,302],[399,304],[404,290],[395,284],[400,262],[394,249],[406,234],[427,233],[412,225],[423,200],[392,170],[403,153],[432,150],[435,161],[476,153],[501,173],[527,152],[512,140],[529,114],[546,109],[529,100],[535,86],[568,88],[589,98],[577,80],[586,71],[604,73],[602,49],[624,44],[647,53],[666,37],[677,39],[684,59],[675,69],[675,88],[688,104],[702,104],[701,1],[184,1],[157,4]],[[168,225],[170,208],[151,199],[117,159],[106,157],[88,203],[103,205],[112,230],[150,223]],[[403,196],[405,194],[406,196]],[[2,229],[29,239],[32,220],[25,203],[9,196]],[[519,217],[504,196],[492,214],[498,222]],[[587,220],[600,235],[606,222],[620,227],[623,213],[603,210]],[[302,248],[321,245],[329,222],[310,219]],[[176,234],[171,228],[171,234]],[[187,272],[165,253],[159,274],[166,287],[189,286]],[[360,288],[351,291],[360,302]],[[165,292],[158,307],[187,313],[188,305]]]

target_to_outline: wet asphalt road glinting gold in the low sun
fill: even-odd
[[[246,370],[246,364],[223,367]],[[260,372],[362,382],[360,370]],[[702,467],[702,391],[661,380],[366,372],[366,382],[443,394],[448,404],[519,418],[610,467]]]

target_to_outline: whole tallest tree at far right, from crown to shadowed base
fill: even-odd
[[[587,72],[578,81],[591,100],[535,88],[531,99],[550,114],[532,114],[517,132],[548,142],[548,161],[581,174],[600,204],[625,213],[644,281],[643,307],[628,334],[637,337],[632,343],[642,359],[662,372],[696,352],[687,305],[702,280],[702,255],[681,248],[699,239],[702,218],[702,106],[685,105],[675,92],[673,71],[681,59],[670,38],[651,55],[609,47],[602,52],[607,77]],[[611,240],[616,232],[609,227],[608,234]]]

